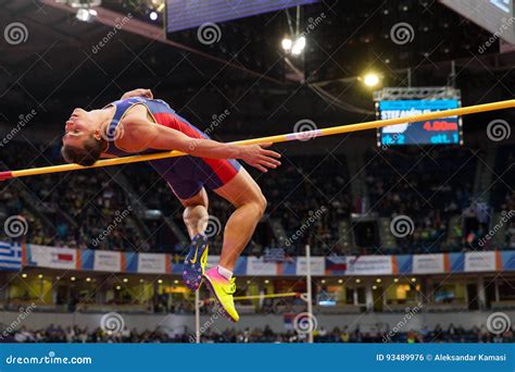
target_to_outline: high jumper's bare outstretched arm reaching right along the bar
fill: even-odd
[[[280,165],[280,153],[266,150],[272,144],[236,146],[212,139],[191,138],[181,132],[156,125],[147,119],[124,121],[123,147],[131,151],[146,149],[178,150],[193,157],[211,159],[241,159],[262,172]],[[118,140],[120,141],[120,140]]]

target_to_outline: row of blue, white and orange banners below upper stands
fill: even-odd
[[[218,259],[218,256],[210,256],[208,263],[216,264]],[[184,258],[174,257],[169,253],[79,250],[33,244],[21,247],[20,245],[0,241],[0,270],[37,266],[96,272],[180,275],[183,260]],[[238,259],[234,272],[238,276],[303,276],[305,275],[305,257],[287,257],[281,261],[266,261],[264,258],[242,256]],[[425,255],[313,256],[311,266],[312,274],[315,276],[508,272],[515,271],[515,250]]]

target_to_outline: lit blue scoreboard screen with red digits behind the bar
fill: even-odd
[[[377,115],[380,120],[405,117],[460,107],[459,99],[380,100],[376,102]],[[451,116],[379,128],[377,145],[461,145],[463,144],[462,135],[461,117]]]

